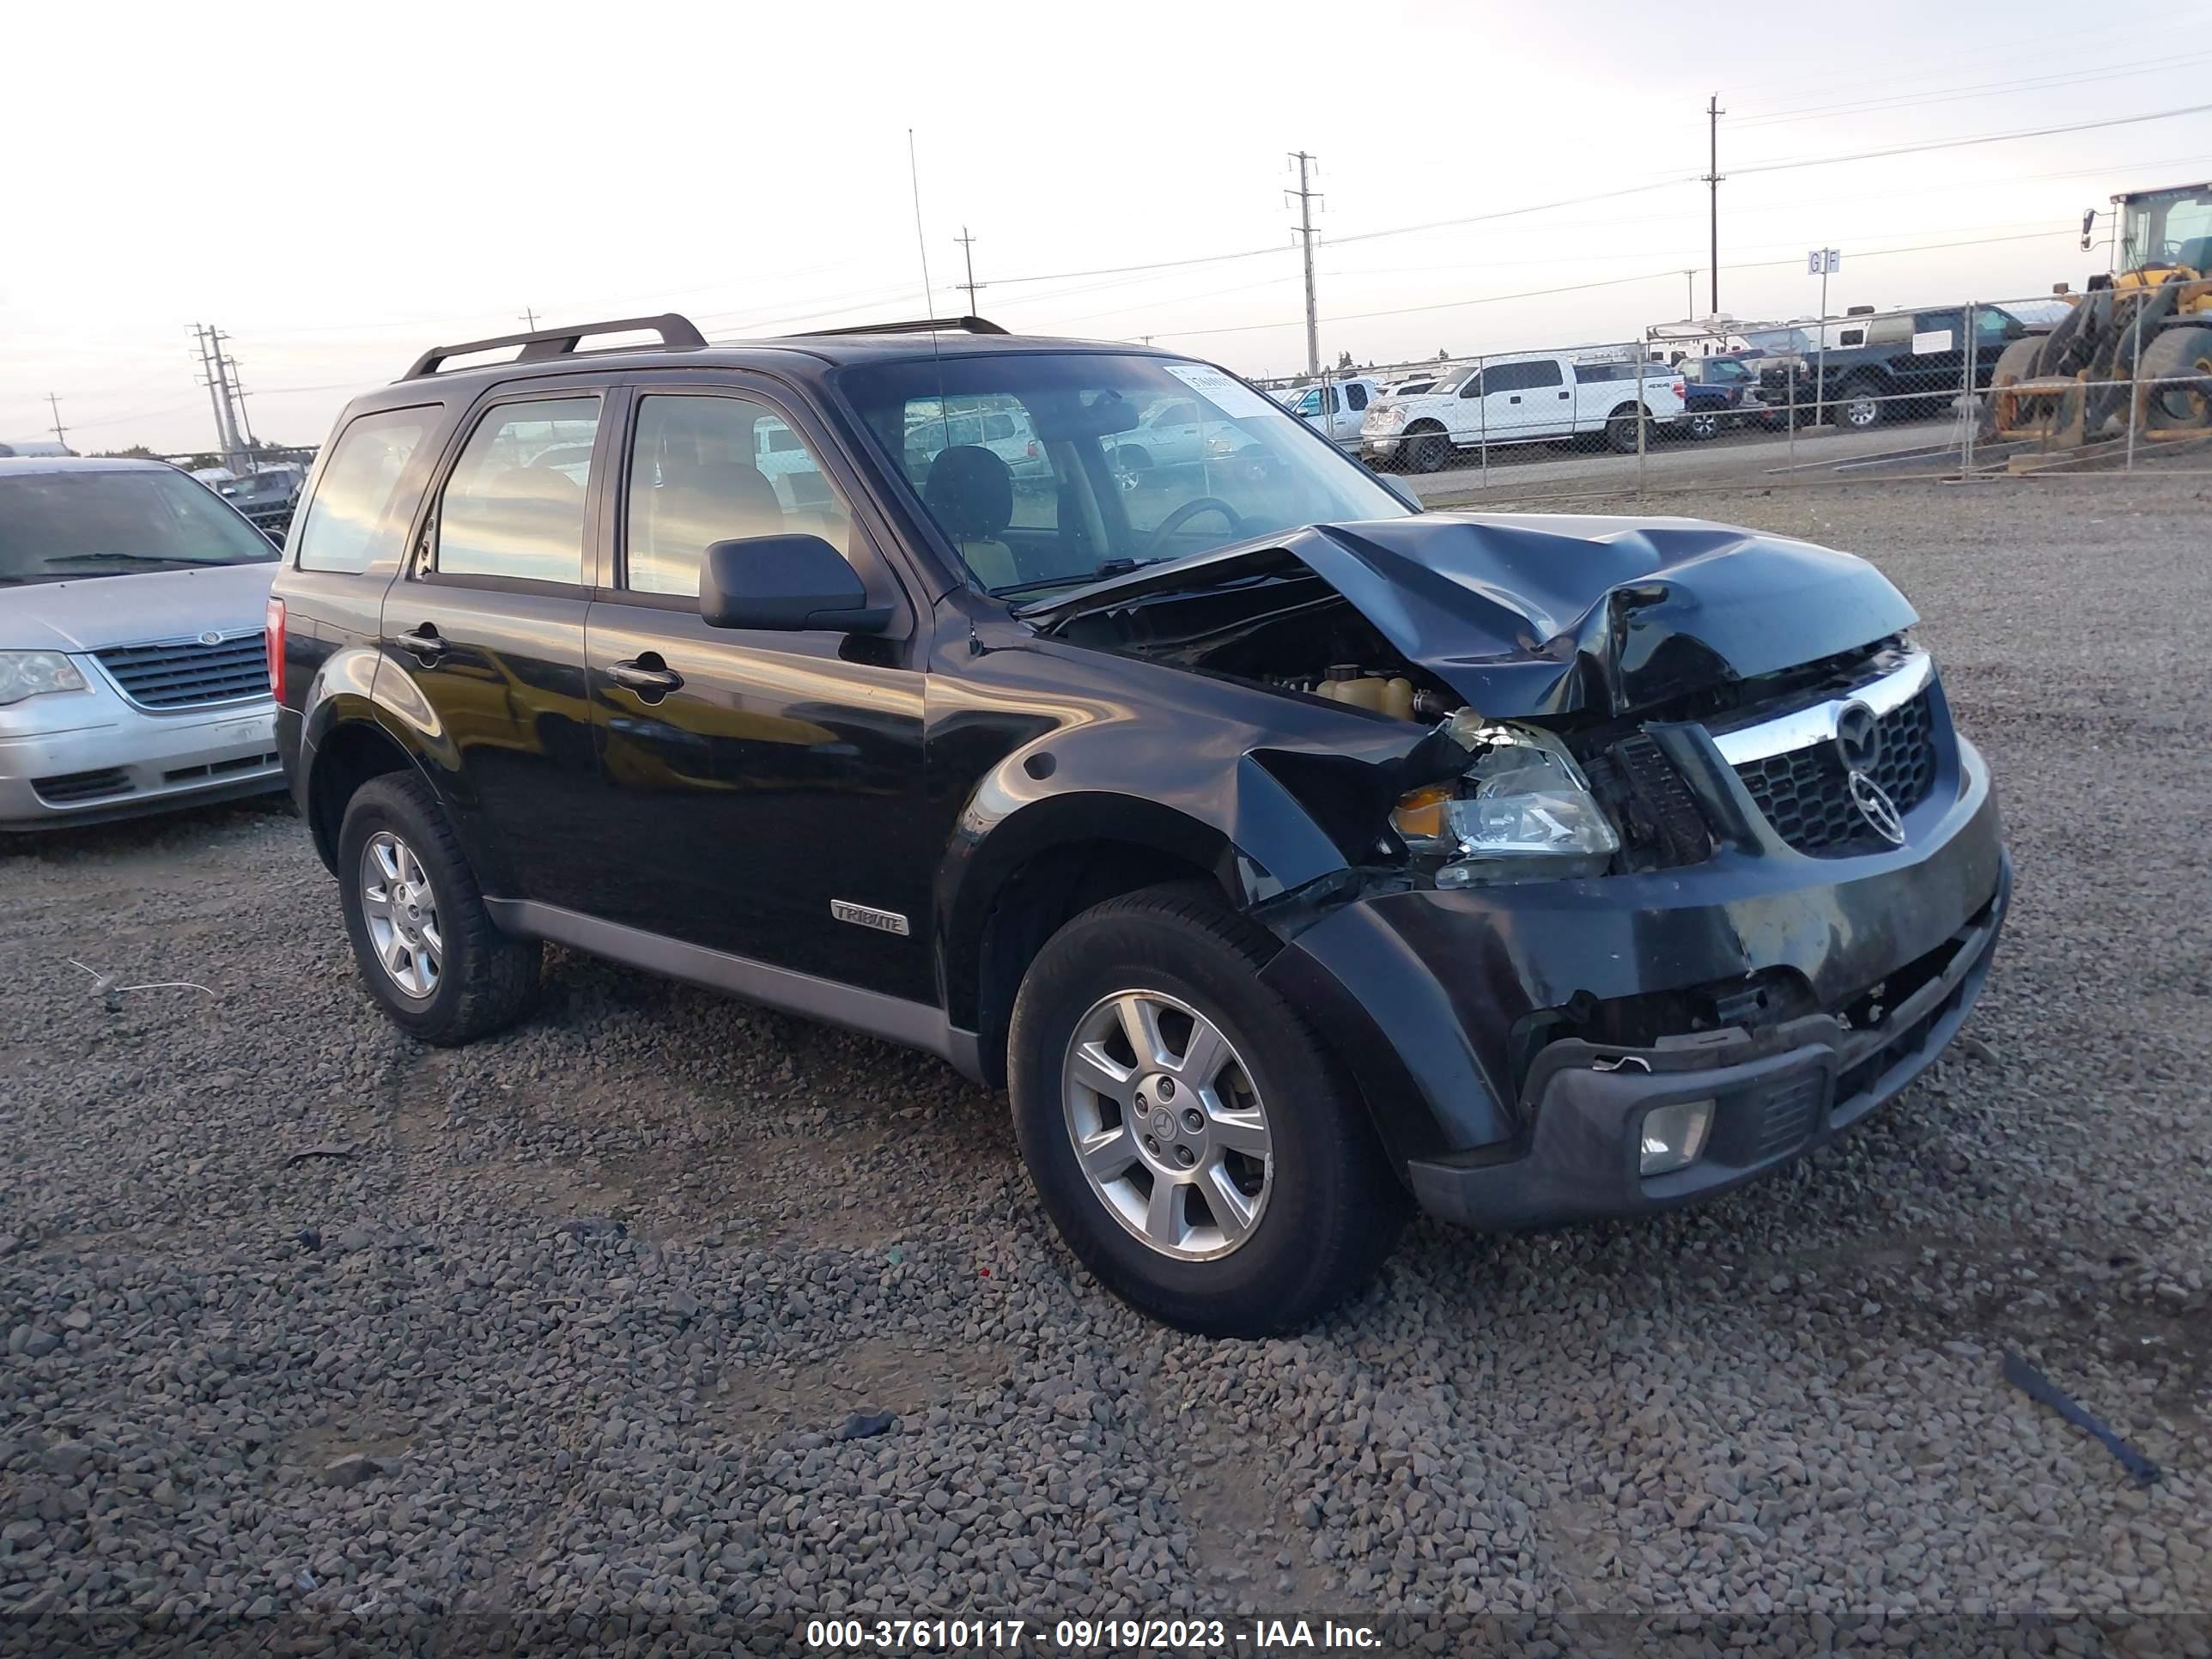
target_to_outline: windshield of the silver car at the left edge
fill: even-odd
[[[274,557],[265,535],[184,473],[0,476],[0,584],[270,564]]]

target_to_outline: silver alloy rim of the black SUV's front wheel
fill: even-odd
[[[1146,1248],[1210,1261],[1243,1245],[1274,1188],[1274,1139],[1221,1026],[1164,991],[1099,998],[1068,1040],[1075,1161]]]

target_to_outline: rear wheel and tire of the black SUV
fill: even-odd
[[[345,803],[338,900],[363,984],[422,1042],[487,1037],[538,998],[542,949],[491,925],[438,796],[409,772],[369,779]]]

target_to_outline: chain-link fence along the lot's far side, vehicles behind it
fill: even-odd
[[[1276,396],[1425,498],[2212,471],[2212,296],[1851,307],[1334,369]]]

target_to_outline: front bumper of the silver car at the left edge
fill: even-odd
[[[69,723],[58,730],[0,728],[0,830],[106,823],[283,787],[272,701],[148,714],[84,695],[60,712]]]

